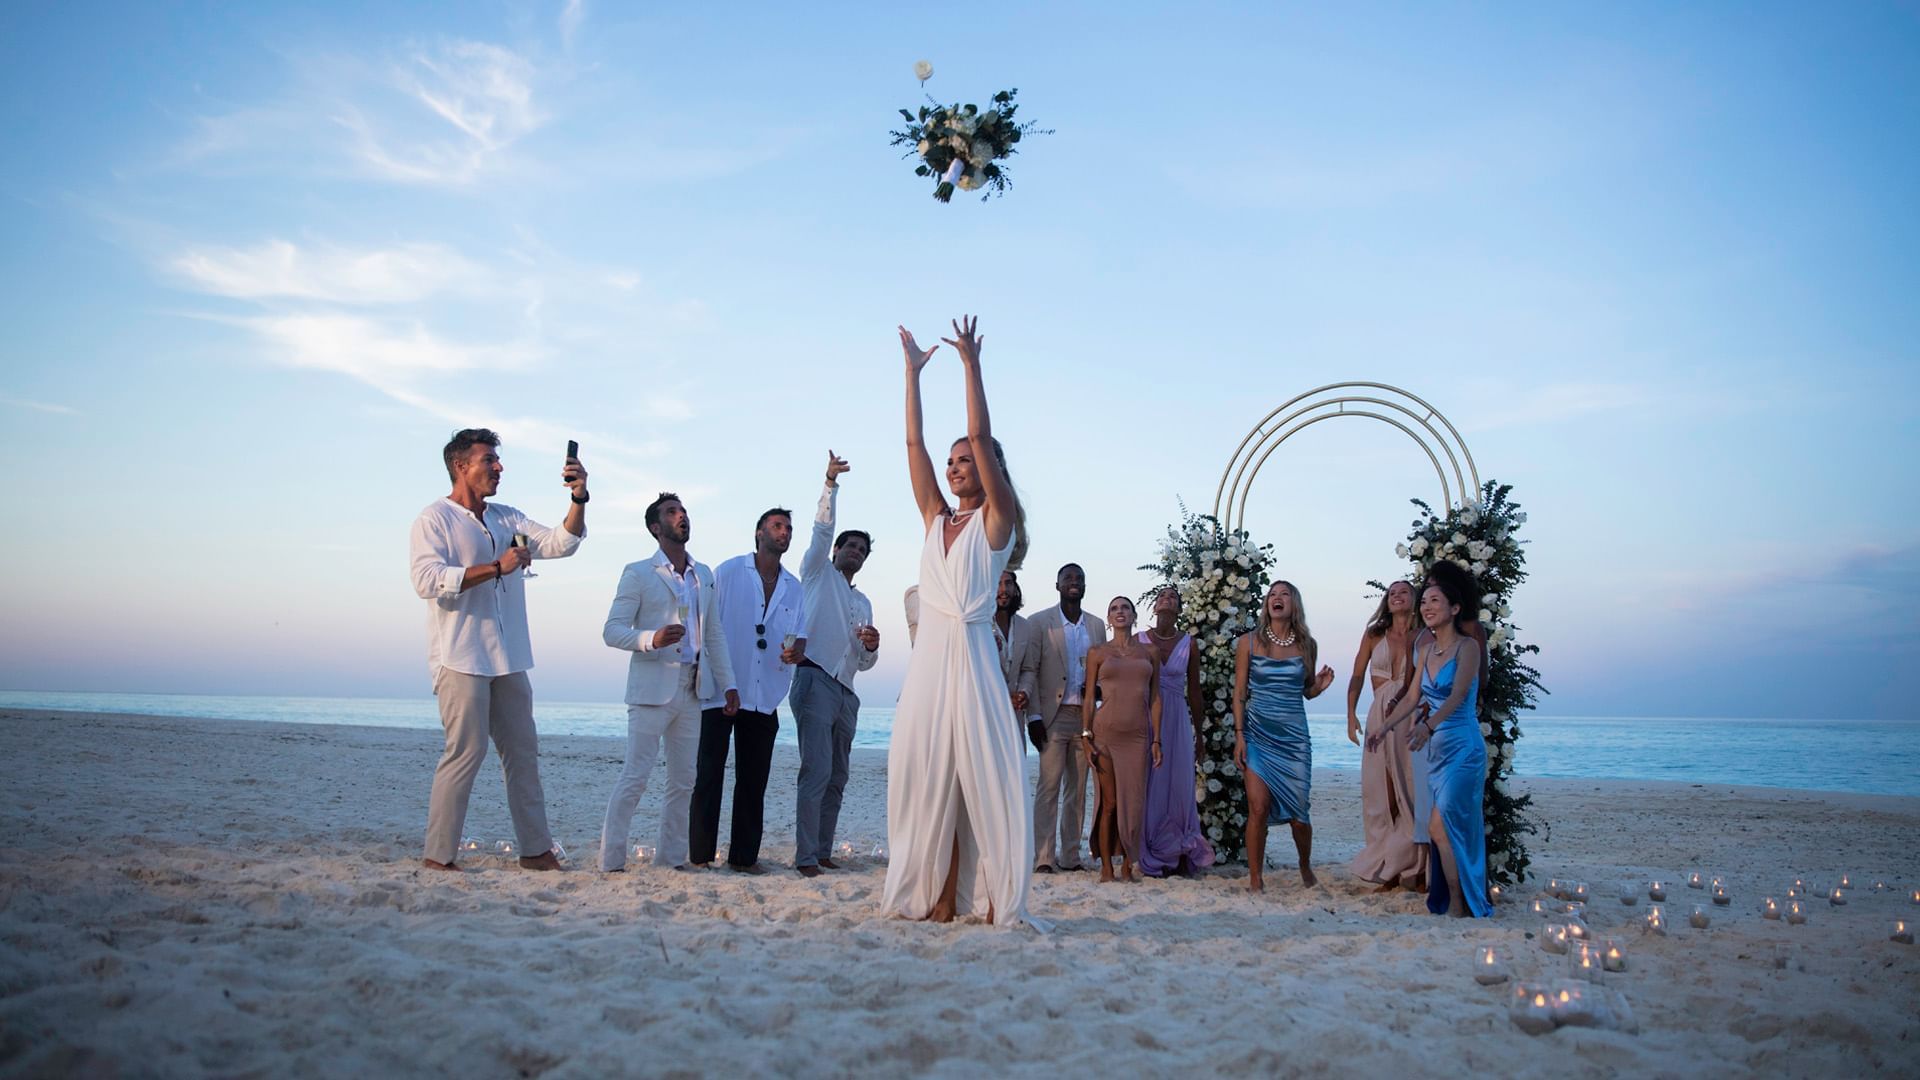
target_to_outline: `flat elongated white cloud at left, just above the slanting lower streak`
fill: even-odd
[[[253,248],[194,248],[171,269],[192,286],[236,300],[411,304],[436,292],[472,292],[486,271],[438,244],[376,250],[301,248],[267,240]]]

